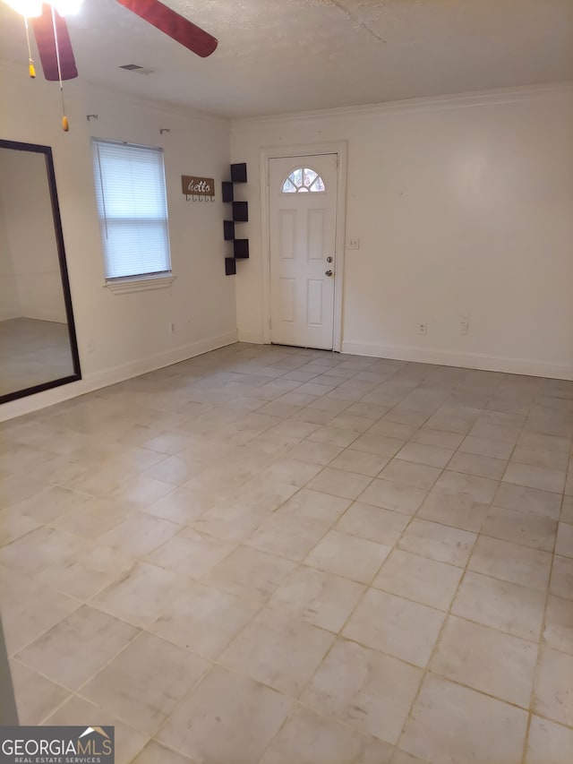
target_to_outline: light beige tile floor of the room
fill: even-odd
[[[0,427],[21,722],[117,764],[566,764],[573,382],[236,344]]]

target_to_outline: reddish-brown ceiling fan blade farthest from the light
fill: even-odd
[[[117,0],[120,5],[136,13],[170,38],[196,53],[201,58],[210,56],[218,46],[218,40],[209,32],[201,30],[192,21],[175,13],[159,0]]]

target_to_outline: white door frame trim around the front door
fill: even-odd
[[[289,157],[312,157],[316,154],[337,154],[337,222],[335,240],[334,317],[332,349],[342,348],[342,298],[346,237],[346,166],[347,141],[304,143],[291,146],[271,146],[261,149],[261,242],[262,242],[262,341],[270,344],[270,194],[269,160]]]

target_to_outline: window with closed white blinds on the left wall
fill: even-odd
[[[92,140],[106,279],[171,272],[163,150]]]

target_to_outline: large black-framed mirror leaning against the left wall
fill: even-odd
[[[79,379],[52,150],[0,140],[0,403]]]

